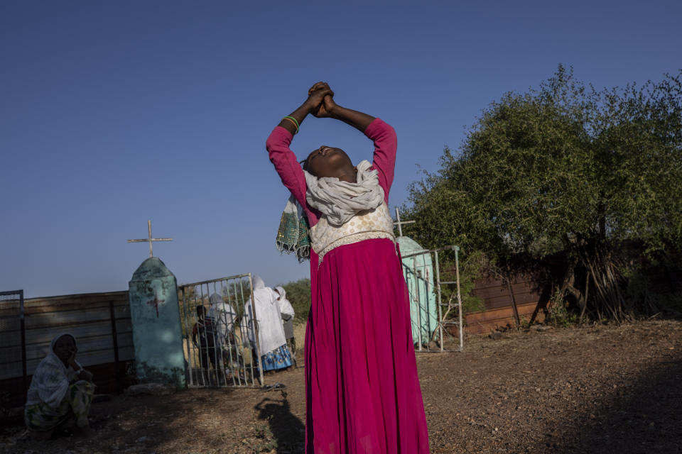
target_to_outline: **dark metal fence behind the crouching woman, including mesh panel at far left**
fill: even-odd
[[[77,360],[94,374],[98,393],[130,384],[134,347],[128,292],[26,299],[23,322],[20,301],[0,299],[0,409],[23,404],[33,371],[62,332],[77,338]]]

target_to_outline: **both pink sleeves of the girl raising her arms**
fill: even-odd
[[[393,183],[396,167],[396,150],[398,148],[396,131],[391,125],[381,121],[380,118],[375,118],[364,130],[364,135],[367,135],[367,138],[374,142],[372,169],[379,171],[379,185],[384,189],[384,201],[388,204],[389,189]],[[270,133],[265,147],[268,150],[270,161],[275,165],[275,170],[282,179],[282,183],[296,197],[298,203],[303,206],[305,214],[308,216],[308,223],[312,227],[318,223],[321,214],[320,211],[305,201],[305,192],[308,187],[305,184],[305,175],[303,175],[301,164],[289,148],[292,139],[293,135],[286,128],[277,126]]]

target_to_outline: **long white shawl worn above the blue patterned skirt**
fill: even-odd
[[[286,345],[286,338],[284,337],[284,327],[282,326],[282,316],[279,311],[276,293],[273,289],[265,287],[263,279],[258,275],[254,275],[253,283],[260,353],[261,355],[266,355],[266,353]],[[254,345],[254,316],[251,311],[251,304],[247,304],[244,319],[246,319],[249,341],[251,345]]]

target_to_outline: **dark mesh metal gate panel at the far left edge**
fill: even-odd
[[[0,411],[9,409],[13,395],[26,400],[26,326],[23,290],[0,292]]]

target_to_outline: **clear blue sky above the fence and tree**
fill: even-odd
[[[481,109],[561,62],[595,87],[682,67],[680,1],[0,3],[0,290],[127,288],[148,257],[195,282],[308,275],[274,238],[288,193],[265,140],[308,88],[399,137],[391,208]],[[321,144],[369,158],[343,123]]]

